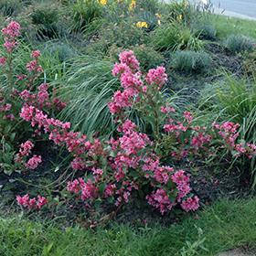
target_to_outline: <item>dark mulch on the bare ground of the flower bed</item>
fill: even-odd
[[[242,76],[241,59],[232,54],[226,48],[223,48],[218,42],[208,42],[206,50],[213,59],[213,64],[205,75],[198,75],[188,72],[179,72],[171,68],[171,59],[165,59],[165,68],[169,80],[166,87],[170,91],[180,91],[178,84],[179,79],[187,81],[187,91],[182,91],[181,96],[189,96],[190,101],[196,101],[198,91],[204,88],[204,85],[215,82],[223,78],[221,70],[223,68],[238,77]],[[173,93],[173,92],[170,92]],[[37,211],[37,216],[41,219],[58,219],[63,225],[74,226],[80,223],[81,226],[91,226],[93,229],[93,221],[103,223],[112,217],[118,223],[131,222],[137,226],[143,226],[144,220],[160,221],[165,224],[176,222],[181,211],[177,210],[174,216],[162,216],[157,212],[153,212],[151,208],[142,202],[141,208],[129,205],[127,208],[115,208],[112,204],[103,201],[98,211],[94,211],[93,206],[85,208],[83,202],[77,202],[76,198],[69,201],[65,195],[60,192],[66,187],[67,181],[76,177],[83,176],[84,173],[78,171],[73,173],[69,167],[71,156],[65,150],[60,150],[52,142],[37,142],[33,154],[42,155],[42,164],[35,170],[30,170],[21,174],[14,172],[11,176],[0,173],[0,199],[4,203],[2,210],[8,212],[12,206],[12,210],[20,210],[16,205],[16,196],[24,196],[29,194],[31,197],[41,196],[55,197],[56,200],[63,202],[58,208],[58,204],[52,205],[49,209]],[[66,160],[65,160],[66,159]],[[229,171],[229,162],[220,165],[206,165],[202,161],[197,161],[194,165],[187,165],[186,161],[176,163],[176,169],[182,168],[191,175],[190,185],[193,193],[200,199],[201,204],[211,205],[219,197],[238,198],[245,197],[250,193],[249,172],[239,171],[239,168],[233,167]],[[244,166],[245,167],[245,166]],[[241,168],[240,168],[241,169]],[[248,170],[248,168],[244,168]],[[55,182],[48,185],[51,182]],[[42,190],[42,187],[44,188]],[[46,191],[42,195],[42,191]],[[27,212],[27,210],[26,210]],[[35,215],[27,212],[33,218]],[[193,213],[190,213],[193,215]],[[103,219],[102,219],[103,218]]]

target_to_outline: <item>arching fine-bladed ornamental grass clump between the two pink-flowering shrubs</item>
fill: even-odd
[[[60,98],[69,102],[62,118],[81,133],[111,133],[112,116],[107,100],[120,86],[112,76],[112,62],[82,56],[67,76],[68,80],[59,80]]]

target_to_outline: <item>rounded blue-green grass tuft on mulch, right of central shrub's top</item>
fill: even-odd
[[[197,73],[206,72],[211,62],[207,53],[192,50],[176,51],[172,55],[172,60],[175,69],[194,71]]]

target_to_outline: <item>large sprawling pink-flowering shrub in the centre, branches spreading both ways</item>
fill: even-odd
[[[67,189],[82,201],[95,201],[96,208],[103,198],[117,207],[133,200],[139,206],[144,198],[162,214],[177,206],[196,210],[199,199],[191,193],[189,175],[170,166],[172,159],[188,157],[193,161],[197,156],[214,155],[219,148],[235,152],[236,156],[251,157],[256,154],[256,146],[236,144],[239,124],[213,123],[210,129],[193,126],[191,112],[184,112],[183,121],[174,121],[175,110],[166,104],[160,92],[167,80],[165,68],[157,67],[143,74],[131,50],[121,53],[120,60],[112,73],[118,76],[123,89],[116,91],[108,102],[114,122],[120,124],[119,136],[108,141],[96,136],[87,138],[69,131],[70,123],[50,118],[32,105],[25,105],[20,116],[76,155],[72,168],[87,174],[69,181]],[[127,118],[132,109],[144,113],[152,133],[143,133]],[[26,153],[23,149],[19,156]]]

